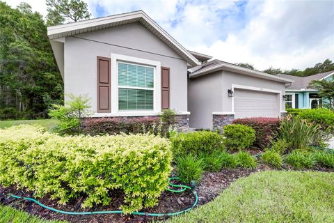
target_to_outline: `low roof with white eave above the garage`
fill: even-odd
[[[220,60],[213,60],[213,61],[209,61],[207,63],[202,63],[199,66],[190,68],[188,71],[190,72],[189,77],[190,78],[196,78],[196,77],[200,77],[202,75],[209,75],[213,72],[219,71],[219,70],[228,70],[231,72],[236,72],[239,73],[241,75],[248,75],[248,76],[252,76],[252,77],[258,77],[258,78],[262,78],[262,79],[269,79],[275,82],[282,82],[285,84],[289,84],[294,82],[292,79],[287,79],[287,78],[283,78],[283,77],[278,77],[275,75],[269,75],[265,72],[261,72],[258,70],[250,70],[248,68],[244,68],[241,66],[237,66],[235,64],[232,63],[227,63],[224,61],[220,61]]]

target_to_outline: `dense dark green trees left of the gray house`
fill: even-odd
[[[27,3],[0,1],[0,24],[0,113],[35,114],[61,103],[63,80],[42,15]]]

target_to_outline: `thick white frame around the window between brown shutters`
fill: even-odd
[[[118,109],[118,62],[134,64],[138,66],[148,66],[154,68],[153,87],[153,110],[129,110],[120,111]],[[126,87],[127,89],[147,89],[141,87]],[[149,89],[152,90],[152,89]],[[111,54],[111,115],[112,116],[147,116],[157,115],[161,112],[161,63],[148,59],[141,59],[134,56],[122,54]]]

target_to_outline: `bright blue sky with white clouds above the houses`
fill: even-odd
[[[5,1],[15,7],[22,0]],[[47,14],[45,1],[25,1]],[[84,1],[92,17],[143,10],[186,49],[257,70],[334,61],[334,0]]]

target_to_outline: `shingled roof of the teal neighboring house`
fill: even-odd
[[[308,77],[298,77],[298,76],[283,75],[283,74],[279,74],[277,76],[294,80],[294,83],[291,84],[290,86],[287,86],[287,89],[301,90],[301,89],[310,89],[308,87],[308,84],[310,84],[312,80],[324,79],[324,78],[330,77],[331,75],[334,75],[334,70],[331,70],[328,72],[321,72],[317,75],[310,75]]]

